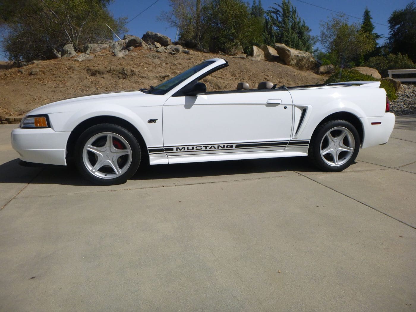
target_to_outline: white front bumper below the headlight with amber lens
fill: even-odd
[[[17,128],[11,134],[12,147],[19,153],[22,161],[65,166],[69,134],[70,131]]]

